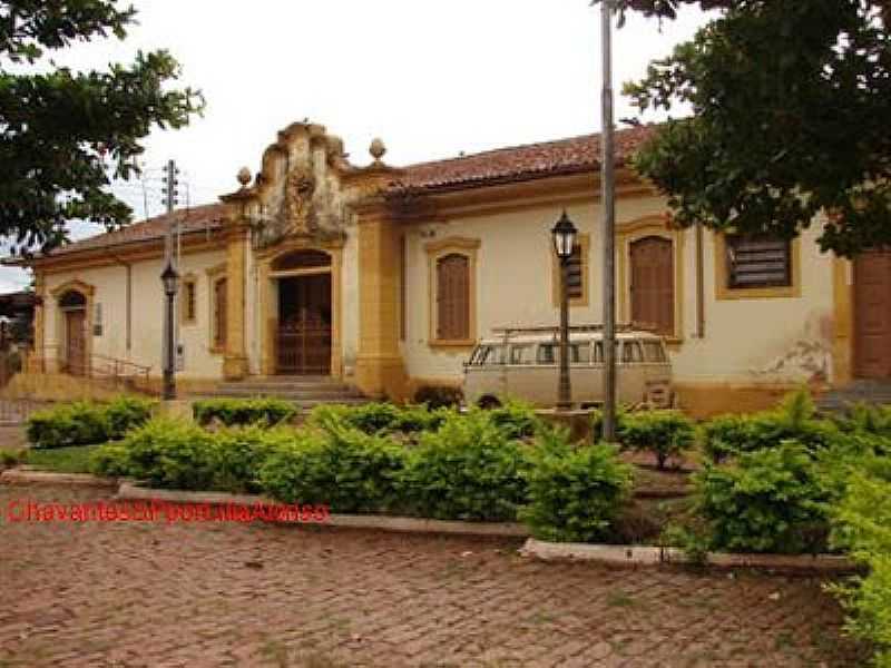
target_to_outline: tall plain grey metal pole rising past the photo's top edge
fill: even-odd
[[[604,434],[616,441],[616,200],[613,148],[613,2],[600,1],[600,47],[604,88],[600,185],[604,204]]]

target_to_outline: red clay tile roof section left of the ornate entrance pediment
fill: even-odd
[[[206,204],[204,206],[196,206],[189,209],[179,209],[173,214],[180,223],[180,232],[187,234],[190,232],[210,232],[218,229],[225,213],[225,205],[223,204]],[[126,244],[136,244],[153,242],[164,238],[170,224],[170,215],[156,216],[147,220],[134,223],[127,227],[121,227],[115,232],[99,234],[96,236],[87,237],[65,246],[59,246],[52,250],[50,256],[65,255],[68,253],[80,253],[82,250],[92,250],[96,248],[110,248],[115,246],[123,246]]]

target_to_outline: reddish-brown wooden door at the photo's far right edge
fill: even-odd
[[[891,250],[854,261],[854,375],[891,380]]]

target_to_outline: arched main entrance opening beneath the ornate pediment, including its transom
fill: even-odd
[[[277,283],[275,373],[331,373],[331,256],[321,250],[295,250],[275,259]]]

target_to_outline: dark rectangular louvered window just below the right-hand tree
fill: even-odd
[[[792,285],[792,253],[787,239],[727,236],[728,287]]]

